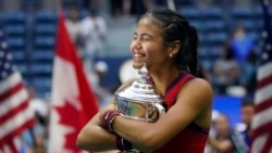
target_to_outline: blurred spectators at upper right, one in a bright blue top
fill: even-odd
[[[217,94],[254,94],[257,71],[255,46],[245,27],[237,25],[211,71],[210,81]]]

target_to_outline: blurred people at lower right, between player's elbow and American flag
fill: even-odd
[[[213,111],[206,153],[248,153],[254,114],[254,101],[247,99],[240,104],[240,123],[235,125],[231,125],[230,117],[224,113]]]

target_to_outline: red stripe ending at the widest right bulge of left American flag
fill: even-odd
[[[21,135],[24,130],[30,128],[36,123],[35,117],[30,118],[29,120],[25,122],[21,127],[17,127],[12,132],[8,133],[5,137],[0,139],[0,149],[2,148],[3,143],[8,140],[13,140],[16,136]]]

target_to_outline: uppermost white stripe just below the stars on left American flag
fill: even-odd
[[[0,94],[9,90],[11,87],[14,87],[21,81],[22,81],[21,74],[18,72],[13,73],[10,77],[3,79],[0,82]]]

